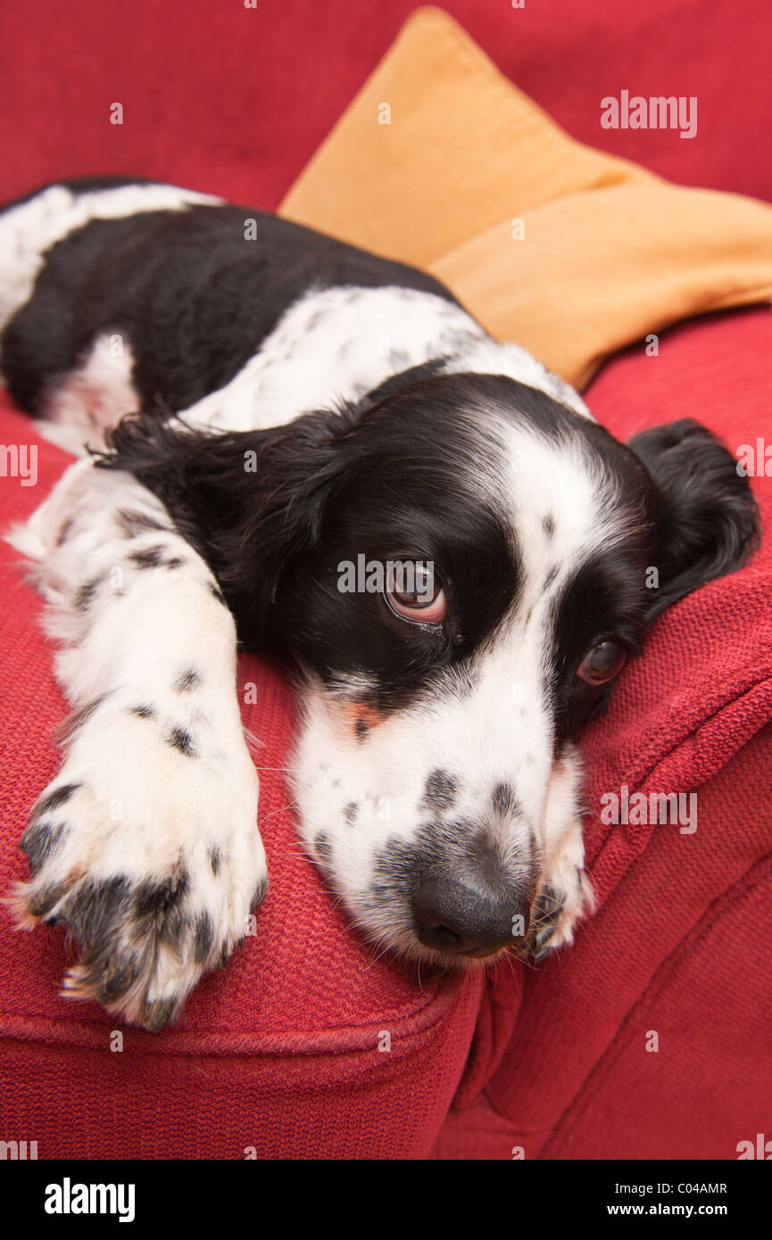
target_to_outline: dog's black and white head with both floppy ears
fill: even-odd
[[[309,853],[370,936],[434,961],[495,956],[513,926],[527,942],[581,812],[556,779],[572,738],[654,616],[756,536],[702,427],[626,445],[503,376],[264,433],[124,424],[115,446],[202,547],[242,640],[297,658]]]

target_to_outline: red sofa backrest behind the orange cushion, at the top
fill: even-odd
[[[0,198],[132,172],[273,208],[415,0],[36,0],[0,6]],[[580,141],[681,185],[772,198],[765,0],[444,0]],[[601,99],[695,95],[698,134],[602,129]],[[113,103],[124,124],[109,123]],[[10,157],[9,157],[10,151]]]

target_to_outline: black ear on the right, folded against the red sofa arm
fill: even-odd
[[[655,484],[659,588],[647,615],[653,620],[745,563],[758,542],[758,508],[736,459],[691,418],[644,430],[628,448]]]

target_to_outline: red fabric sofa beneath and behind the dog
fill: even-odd
[[[411,7],[41,0],[32,24],[6,6],[0,198],[125,171],[273,207]],[[447,7],[581,140],[676,181],[772,198],[761,5],[742,24],[729,2],[705,20],[685,0],[613,19],[598,0]],[[599,97],[638,83],[696,94],[698,138],[602,130]],[[727,98],[742,98],[741,118]],[[114,102],[123,126],[109,124]],[[655,357],[640,346],[607,365],[587,399],[621,436],[695,417],[734,450],[772,444],[771,353],[767,308],[698,320],[664,334]],[[68,458],[7,402],[0,443],[38,445],[36,486],[0,477],[6,526]],[[772,476],[753,486],[766,527]],[[242,658],[272,874],[257,936],[177,1027],[118,1038],[97,1006],[57,997],[72,955],[62,932],[14,932],[0,913],[0,1138],[35,1140],[40,1158],[552,1159],[736,1158],[738,1142],[772,1137],[770,546],[660,618],[586,729],[599,908],[573,949],[532,971],[418,981],[375,961],[294,843],[283,670]],[[66,713],[16,563],[0,544],[4,887],[26,873],[16,843],[57,768],[50,737]],[[696,791],[698,830],[604,826],[599,797],[622,785]]]

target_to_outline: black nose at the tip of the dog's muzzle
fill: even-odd
[[[530,901],[506,883],[480,889],[472,874],[424,874],[413,894],[416,934],[426,947],[490,956],[525,934]]]

